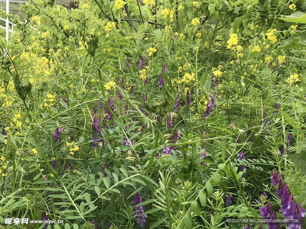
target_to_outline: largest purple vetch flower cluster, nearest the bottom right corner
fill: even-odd
[[[299,202],[295,202],[293,200],[293,194],[290,193],[288,185],[282,180],[281,174],[277,170],[272,170],[270,179],[274,187],[278,184],[278,189],[275,191],[275,193],[282,199],[282,207],[280,210],[283,212],[284,217],[286,219],[298,219],[298,223],[289,224],[288,229],[300,229],[301,220],[302,217],[305,217],[306,210],[301,208]]]

